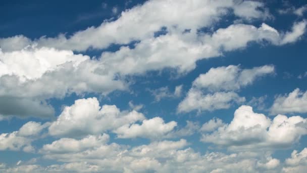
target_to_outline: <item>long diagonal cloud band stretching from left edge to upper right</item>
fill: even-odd
[[[305,21],[295,23],[292,31],[285,34],[264,23],[260,27],[233,24],[217,29],[212,34],[198,34],[199,28],[211,26],[221,16],[230,13],[231,8],[234,9],[234,15],[241,18],[263,18],[265,13],[260,9],[264,5],[250,1],[241,4],[232,1],[196,1],[182,6],[183,3],[186,2],[149,1],[123,12],[115,21],[105,21],[97,28],[76,32],[69,38],[63,34],[56,38],[41,37],[36,40],[29,40],[22,35],[1,38],[0,97],[20,97],[35,101],[37,105],[46,99],[63,98],[72,93],[107,95],[115,90],[128,90],[129,82],[125,79],[129,75],[142,75],[150,70],[165,68],[173,68],[184,74],[193,70],[200,59],[245,48],[251,41],[267,40],[273,45],[282,45],[296,41],[304,33]],[[163,15],[163,20],[154,20],[159,16],[157,14],[163,13],[152,13],[152,9],[169,15]],[[173,13],[169,12],[170,9]],[[182,16],[184,10],[193,12],[193,15]],[[134,32],[135,27],[138,29],[137,34]],[[155,37],[154,33],[162,27],[166,28],[167,33]],[[190,29],[190,32],[183,33],[186,29]],[[104,52],[98,60],[71,51],[103,49],[111,44],[129,44],[133,40],[139,40],[133,48],[122,46],[116,52]],[[16,46],[10,48],[8,45]],[[180,94],[180,88],[177,89],[175,96]],[[40,105],[40,109],[44,115],[52,114],[43,105]],[[20,112],[27,112],[24,110]],[[7,116],[7,113],[2,114]],[[26,115],[19,112],[10,114],[38,116],[33,112]]]

